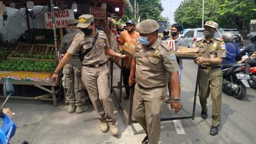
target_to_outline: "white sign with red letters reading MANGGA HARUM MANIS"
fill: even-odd
[[[64,9],[54,12],[55,15],[55,27],[64,28],[68,24],[70,19],[75,19],[73,9]],[[47,29],[53,27],[52,25],[52,12],[45,12],[45,25]]]

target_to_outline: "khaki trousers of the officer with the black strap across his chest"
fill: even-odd
[[[105,64],[99,68],[89,68],[83,66],[82,80],[88,91],[92,105],[101,122],[113,125],[114,118],[113,100],[109,90],[109,68]]]

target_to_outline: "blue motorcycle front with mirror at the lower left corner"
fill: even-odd
[[[0,144],[9,144],[10,139],[14,136],[17,126],[14,124],[12,119],[3,113],[2,109],[5,106],[9,97],[15,92],[12,83],[9,80],[4,80],[4,95],[8,95],[5,102],[2,104],[0,109]],[[21,144],[28,144],[24,141]]]

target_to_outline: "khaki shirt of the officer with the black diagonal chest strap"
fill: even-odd
[[[104,48],[109,48],[109,42],[107,40],[107,35],[103,31],[98,31],[93,35],[85,35],[83,32],[78,33],[74,40],[72,41],[71,46],[67,50],[70,54],[76,54],[81,50],[81,53],[85,52],[88,48],[92,47],[92,42],[97,33],[98,39],[95,42],[95,45],[92,47],[90,52],[88,52],[83,58],[83,64],[103,64],[107,61],[105,57]]]

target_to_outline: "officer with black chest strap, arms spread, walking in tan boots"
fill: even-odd
[[[67,53],[59,62],[52,75],[52,83],[58,80],[58,72],[71,59],[72,55],[77,54],[79,50],[83,53],[90,49],[93,40],[98,36],[95,45],[83,57],[82,80],[101,121],[100,130],[107,132],[109,125],[112,135],[118,135],[112,107],[113,99],[110,97],[109,69],[105,54],[114,57],[125,57],[125,55],[116,53],[109,48],[106,34],[95,28],[94,18],[91,14],[81,15],[77,27],[80,27],[82,32],[76,35]]]

